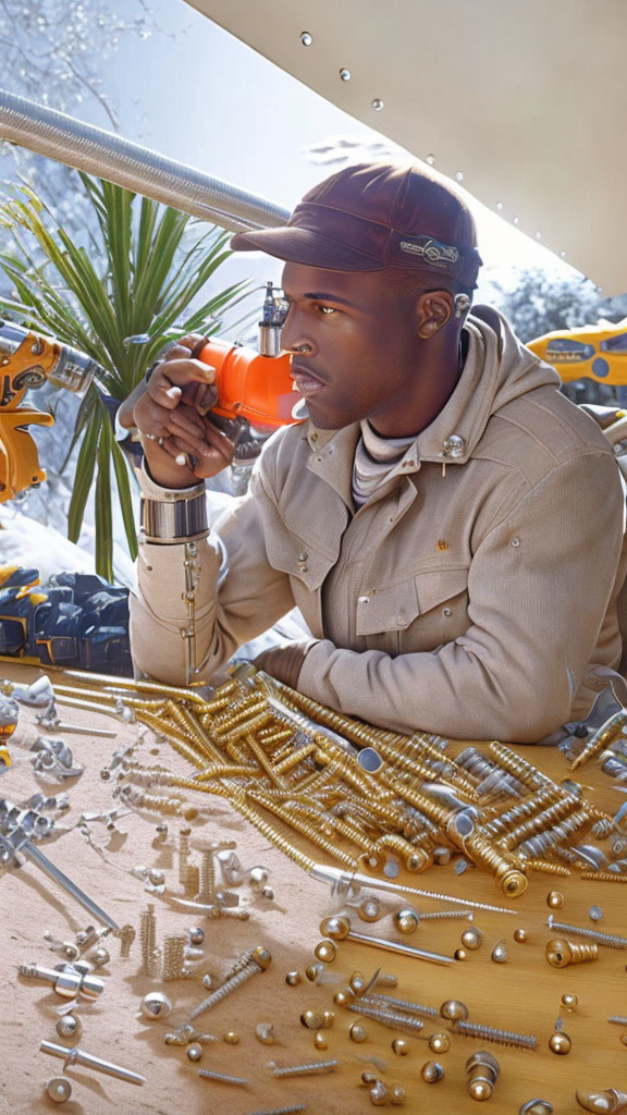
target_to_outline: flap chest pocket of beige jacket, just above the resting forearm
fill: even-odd
[[[388,653],[435,650],[467,629],[467,575],[428,570],[370,590],[357,600],[356,634]]]

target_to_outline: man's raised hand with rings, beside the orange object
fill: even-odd
[[[133,408],[151,475],[164,487],[215,476],[233,456],[229,438],[204,418],[216,392],[214,369],[192,356],[203,340],[192,333],[170,346]]]

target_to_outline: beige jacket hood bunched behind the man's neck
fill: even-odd
[[[457,386],[446,406],[404,455],[413,458],[415,467],[422,460],[464,464],[483,437],[490,417],[505,403],[537,387],[557,390],[560,386],[557,371],[524,347],[496,310],[474,307],[464,329],[469,347]],[[311,448],[338,436],[356,442],[358,432],[355,427],[321,430],[307,424]]]

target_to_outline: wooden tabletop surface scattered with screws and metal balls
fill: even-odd
[[[30,682],[39,672],[35,667],[0,663],[0,676],[15,681]],[[59,679],[57,673],[51,677],[54,681]],[[117,737],[113,740],[88,734],[65,734],[75,758],[86,765],[86,770],[71,780],[69,788],[58,783],[44,783],[33,774],[29,752],[39,729],[33,712],[22,708],[11,743],[15,764],[0,779],[0,794],[11,801],[22,801],[37,788],[45,788],[50,794],[68,789],[71,808],[59,822],[64,826],[71,825],[80,813],[112,808],[113,783],[103,780],[100,770],[108,765],[115,749],[136,739],[138,729],[136,725],[99,714],[61,706],[59,711],[67,723],[87,728],[114,727]],[[558,752],[530,747],[520,750],[556,779],[567,777],[568,764]],[[166,745],[156,745],[149,733],[138,757],[149,765],[162,763],[189,773],[184,762]],[[611,780],[592,765],[585,767],[581,775],[582,780],[594,787],[590,791],[592,799],[615,812],[623,796]],[[186,792],[173,793],[182,793],[192,801]],[[195,804],[204,813],[193,822],[194,828],[202,827],[203,834],[212,838],[235,840],[238,855],[245,867],[253,864],[268,867],[276,894],[273,902],[254,899],[244,884],[239,893],[242,903],[250,908],[249,921],[201,920],[205,929],[206,964],[203,970],[224,972],[240,952],[254,944],[264,944],[271,950],[272,964],[202,1019],[203,1028],[220,1038],[235,1030],[240,1035],[239,1045],[222,1040],[208,1045],[202,1061],[194,1065],[184,1049],[164,1044],[164,1034],[206,993],[200,980],[170,982],[162,987],[158,981],[139,975],[138,935],[126,960],[119,957],[119,943],[109,938],[105,943],[112,959],[102,970],[106,988],[97,1002],[81,1005],[78,1009],[84,1024],[78,1045],[90,1054],[142,1073],[146,1084],[139,1088],[85,1068],[70,1068],[67,1075],[73,1080],[74,1093],[65,1106],[69,1115],[99,1115],[116,1107],[133,1115],[174,1115],[181,1111],[185,1115],[208,1112],[247,1115],[296,1102],[305,1103],[311,1115],[357,1115],[370,1109],[360,1075],[365,1069],[378,1072],[373,1059],[379,1066],[378,1075],[386,1080],[398,1080],[407,1088],[405,1111],[434,1115],[473,1112],[475,1102],[466,1092],[464,1066],[476,1049],[488,1049],[501,1067],[488,1108],[492,1115],[515,1115],[522,1103],[536,1096],[549,1099],[557,1115],[570,1115],[580,1111],[575,1099],[576,1088],[612,1086],[627,1090],[627,1046],[621,1043],[623,1030],[607,1022],[609,1015],[627,1015],[627,951],[599,949],[597,961],[562,970],[551,968],[544,959],[544,947],[552,935],[546,923],[551,912],[547,905],[550,890],[559,890],[566,898],[563,909],[553,911],[561,920],[592,927],[595,923],[588,911],[598,905],[604,911],[598,928],[623,934],[627,931],[625,886],[586,882],[577,875],[562,880],[533,874],[528,892],[511,903],[500,894],[492,878],[481,871],[471,869],[457,875],[450,864],[433,867],[422,875],[404,875],[403,882],[408,885],[478,902],[514,905],[517,913],[476,911],[474,924],[484,934],[482,948],[469,952],[465,962],[450,968],[344,942],[338,948],[337,959],[325,972],[325,979],[332,982],[315,986],[303,977],[300,986],[289,987],[286,973],[295,969],[302,972],[312,962],[314,947],[320,940],[319,922],[339,908],[327,888],[270,846],[228,803],[196,796],[199,802]],[[91,824],[102,854],[88,845],[76,827],[40,846],[120,924],[131,922],[138,929],[141,912],[148,902],[154,902],[157,940],[162,941],[166,933],[183,932],[197,923],[193,915],[146,893],[143,881],[132,874],[139,865],[163,867],[168,886],[181,893],[174,840],[165,846],[153,845],[155,825],[163,820],[168,822],[170,835],[175,837],[183,823],[180,817],[163,818],[133,812],[118,822],[122,834],[109,833],[97,822]],[[280,830],[279,823],[277,827]],[[306,847],[305,843],[301,846],[315,855],[310,846]],[[397,934],[392,928],[390,913],[403,903],[379,894],[386,903],[386,917],[374,925],[357,924],[361,931],[394,938]],[[4,989],[4,1009],[0,1017],[0,1111],[36,1115],[51,1106],[44,1095],[44,1082],[62,1073],[62,1061],[39,1053],[39,1044],[41,1039],[61,1043],[55,1024],[57,1008],[64,1000],[47,985],[18,977],[18,964],[38,962],[54,967],[59,958],[49,951],[44,940],[45,931],[60,940],[73,940],[91,919],[28,863],[0,878],[0,904]],[[422,911],[443,908],[442,902],[428,899],[414,904]],[[355,911],[353,914],[355,917]],[[462,921],[425,922],[415,934],[403,940],[452,954],[460,946],[464,928],[467,923]],[[513,931],[518,928],[528,931],[527,942],[514,941]],[[491,960],[491,951],[501,939],[508,949],[508,960],[496,964]],[[392,1040],[398,1035],[368,1020],[364,1020],[367,1040],[354,1044],[348,1037],[348,1028],[357,1016],[334,1007],[332,996],[354,970],[369,975],[379,966],[398,977],[397,990],[390,993],[436,1007],[445,999],[462,999],[470,1008],[472,1020],[533,1034],[538,1048],[525,1051],[453,1036],[450,1051],[437,1057],[430,1050],[426,1038],[444,1026],[427,1022],[425,1037],[408,1038],[409,1055],[397,1057],[392,1050]],[[166,1021],[147,1022],[138,1012],[142,997],[153,989],[165,991],[173,1000],[174,1011]],[[572,1012],[560,1005],[561,996],[567,992],[577,995],[579,1000]],[[314,1034],[300,1024],[300,1015],[308,1008],[336,1010],[335,1024],[326,1031],[327,1050],[315,1049]],[[548,1048],[559,1016],[572,1039],[572,1050],[565,1057],[556,1056]],[[260,1021],[274,1025],[274,1046],[262,1045],[255,1038],[254,1028]],[[290,1065],[329,1057],[337,1058],[339,1066],[327,1076],[276,1079],[267,1067],[271,1059],[279,1065]],[[426,1084],[421,1077],[421,1068],[427,1060],[440,1060],[444,1068],[444,1078],[438,1084]],[[243,1088],[210,1083],[199,1078],[199,1067],[244,1076],[250,1084]]]

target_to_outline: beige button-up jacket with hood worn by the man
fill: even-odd
[[[295,604],[299,689],[398,731],[536,741],[620,659],[625,501],[597,424],[494,311],[469,318],[455,391],[357,514],[359,426],[292,426],[200,543],[201,676]],[[462,442],[451,456],[451,435]],[[181,683],[180,545],[142,543],[138,669]]]

